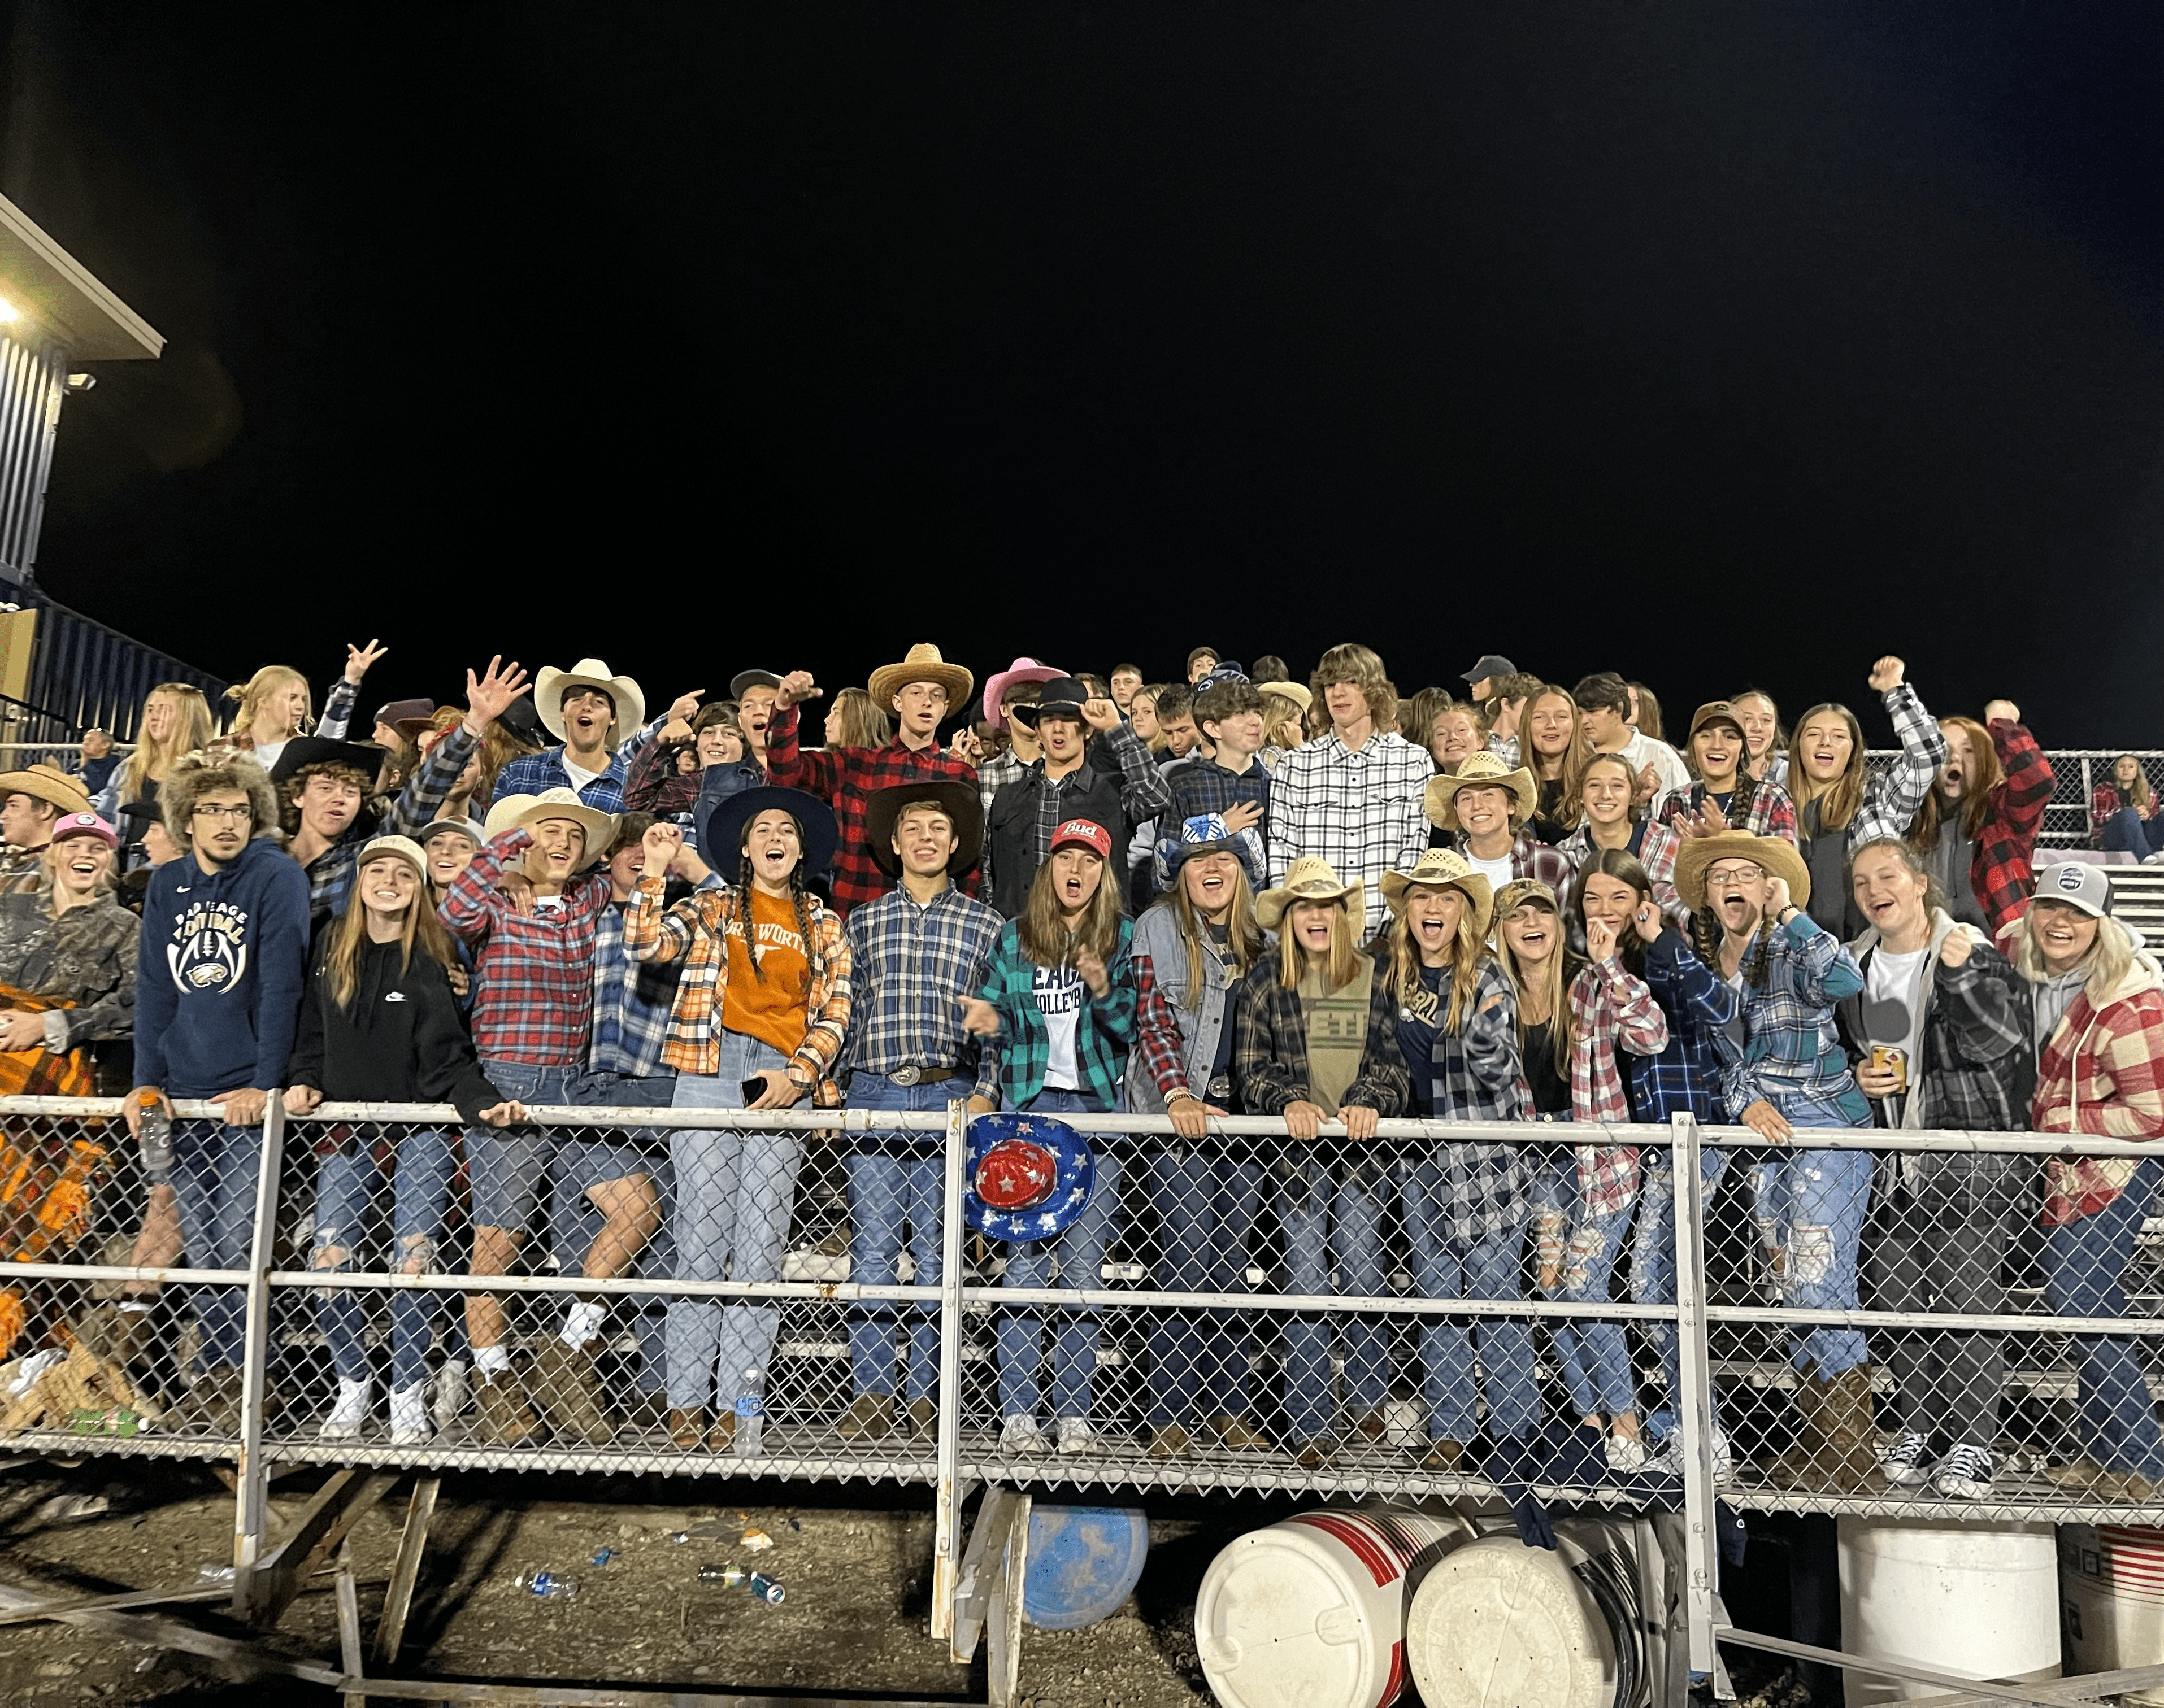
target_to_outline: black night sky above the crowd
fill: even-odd
[[[45,586],[385,696],[1900,651],[2164,742],[2153,0],[673,11],[11,6],[0,190],[171,337]]]

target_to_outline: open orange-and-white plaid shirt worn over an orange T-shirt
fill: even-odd
[[[725,928],[736,908],[738,889],[718,884],[699,889],[664,908],[667,884],[660,876],[641,878],[632,908],[623,917],[623,947],[634,960],[682,962],[675,1008],[669,1012],[669,1042],[662,1062],[677,1072],[721,1072],[721,1016],[729,999],[729,940]],[[812,1092],[818,1109],[840,1109],[842,1087],[835,1064],[848,1038],[848,936],[840,917],[818,897],[805,904],[812,930],[805,934],[805,960],[812,984],[805,990],[805,1040],[790,1055],[783,1072],[790,1085]]]

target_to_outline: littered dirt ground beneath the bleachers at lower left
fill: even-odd
[[[279,1479],[273,1509],[290,1520],[320,1472]],[[405,1487],[355,1531],[361,1624],[374,1632],[405,1518]],[[545,1678],[690,1691],[876,1691],[982,1702],[974,1667],[928,1637],[933,1520],[926,1490],[675,1479],[446,1477],[428,1563],[400,1656],[407,1676]],[[110,1500],[80,1522],[48,1522],[58,1496]],[[232,1494],[203,1468],[156,1462],[76,1470],[0,1470],[0,1583],[71,1593],[188,1587],[229,1557]],[[1290,1507],[1288,1507],[1290,1511]],[[1151,1557],[1127,1606],[1080,1632],[1024,1632],[1021,1680],[1037,1708],[1175,1708],[1208,1704],[1195,1660],[1195,1587],[1216,1550],[1281,1511],[1264,1503],[1151,1503]],[[673,1542],[688,1529],[718,1529]],[[775,1546],[747,1552],[744,1529]],[[593,1554],[610,1548],[604,1565]],[[775,1576],[779,1606],[697,1572],[736,1561]],[[537,1600],[522,1572],[578,1583],[571,1600]],[[327,1580],[325,1580],[327,1583]],[[245,1634],[229,1628],[232,1634]],[[333,1665],[329,1589],[305,1593],[279,1647]],[[275,1693],[275,1695],[273,1695]],[[138,1647],[65,1624],[0,1626],[6,1704],[331,1704],[296,1682],[238,1684],[214,1663]]]

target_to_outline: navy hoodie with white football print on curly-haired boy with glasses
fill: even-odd
[[[275,837],[208,876],[195,854],[158,867],[143,893],[136,1085],[283,1085],[305,973],[307,873]]]

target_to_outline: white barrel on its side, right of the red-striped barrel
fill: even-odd
[[[1454,1548],[1420,1580],[1404,1622],[1404,1656],[1426,1708],[1612,1708],[1625,1702],[1617,1622],[1573,1570],[1606,1554],[1610,1574],[1636,1580],[1625,1531],[1558,1520],[1556,1550],[1513,1531]],[[1636,1589],[1627,1591],[1636,1604]],[[1638,1632],[1632,1678],[1645,1671]],[[1636,1695],[1636,1689],[1629,1691]]]

